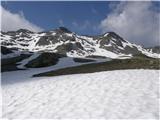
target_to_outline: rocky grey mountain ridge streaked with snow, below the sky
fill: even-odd
[[[56,52],[69,57],[128,58],[143,53],[160,58],[159,54],[132,44],[114,32],[99,36],[81,36],[64,27],[40,33],[25,29],[1,32],[1,45],[18,51]]]

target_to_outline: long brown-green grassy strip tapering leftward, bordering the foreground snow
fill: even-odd
[[[93,73],[120,69],[160,69],[160,59],[153,59],[139,55],[135,56],[132,59],[114,59],[112,61],[107,61],[103,63],[92,63],[77,67],[59,69],[56,71],[36,74],[34,75],[34,77]]]

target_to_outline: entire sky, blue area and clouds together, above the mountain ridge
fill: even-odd
[[[45,31],[64,26],[83,35],[114,31],[130,42],[159,45],[160,2],[1,2],[1,30]]]

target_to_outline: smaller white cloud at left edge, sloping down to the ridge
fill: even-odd
[[[18,29],[28,29],[34,32],[42,31],[43,29],[27,19],[25,19],[22,11],[19,13],[11,13],[2,6],[1,9],[1,30],[2,31],[15,31]]]

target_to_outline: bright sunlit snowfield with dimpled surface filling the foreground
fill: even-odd
[[[2,84],[3,117],[158,119],[159,73],[117,70]]]

